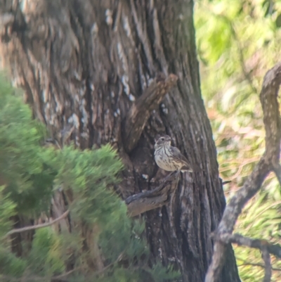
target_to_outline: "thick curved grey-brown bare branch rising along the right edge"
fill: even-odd
[[[280,113],[277,94],[281,83],[281,63],[277,63],[263,78],[260,100],[263,108],[263,123],[266,129],[266,151],[254,168],[251,175],[244,182],[240,191],[231,198],[223,212],[216,231],[214,254],[207,271],[205,282],[216,282],[221,274],[226,254],[226,242],[221,238],[226,233],[233,233],[235,222],[242,207],[261,188],[268,173],[279,165],[280,158]]]

